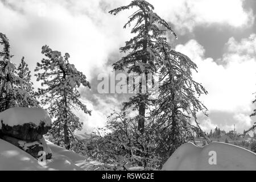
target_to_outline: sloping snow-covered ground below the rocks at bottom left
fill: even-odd
[[[94,170],[101,163],[91,162],[75,152],[65,150],[47,141],[53,156],[46,163],[40,163],[20,148],[0,139],[0,171],[3,170]]]

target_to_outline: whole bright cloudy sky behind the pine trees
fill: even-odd
[[[171,24],[178,39],[169,35],[174,49],[198,66],[193,77],[208,90],[201,97],[209,117],[199,113],[201,126],[238,131],[248,129],[256,118],[249,115],[256,92],[256,0],[148,0],[155,12]],[[0,0],[0,32],[11,43],[13,62],[22,56],[33,71],[43,58],[43,45],[68,52],[92,89],[81,89],[92,116],[77,113],[82,132],[104,126],[107,115],[126,97],[97,94],[97,75],[110,73],[122,56],[119,47],[131,38],[123,29],[129,10],[117,16],[109,10],[129,0]],[[33,78],[35,86],[39,86]]]

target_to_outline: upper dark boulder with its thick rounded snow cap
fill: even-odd
[[[43,138],[51,129],[51,117],[40,108],[13,107],[0,113],[0,133],[26,141]]]

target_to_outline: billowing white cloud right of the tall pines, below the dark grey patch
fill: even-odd
[[[226,128],[232,127],[234,122],[237,122],[241,130],[252,124],[249,115],[254,109],[251,102],[256,92],[255,41],[255,34],[241,42],[230,38],[226,43],[226,52],[218,61],[206,58],[204,48],[196,40],[176,47],[177,51],[185,53],[197,64],[199,72],[194,73],[194,78],[208,90],[209,94],[202,96],[201,100],[208,107],[209,113],[233,113]],[[209,121],[203,123],[205,127],[210,126]]]

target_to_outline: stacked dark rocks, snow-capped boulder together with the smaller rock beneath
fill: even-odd
[[[40,108],[14,107],[0,113],[0,138],[36,159],[40,158],[40,151],[51,159],[52,152],[43,138],[49,129],[51,118]]]

